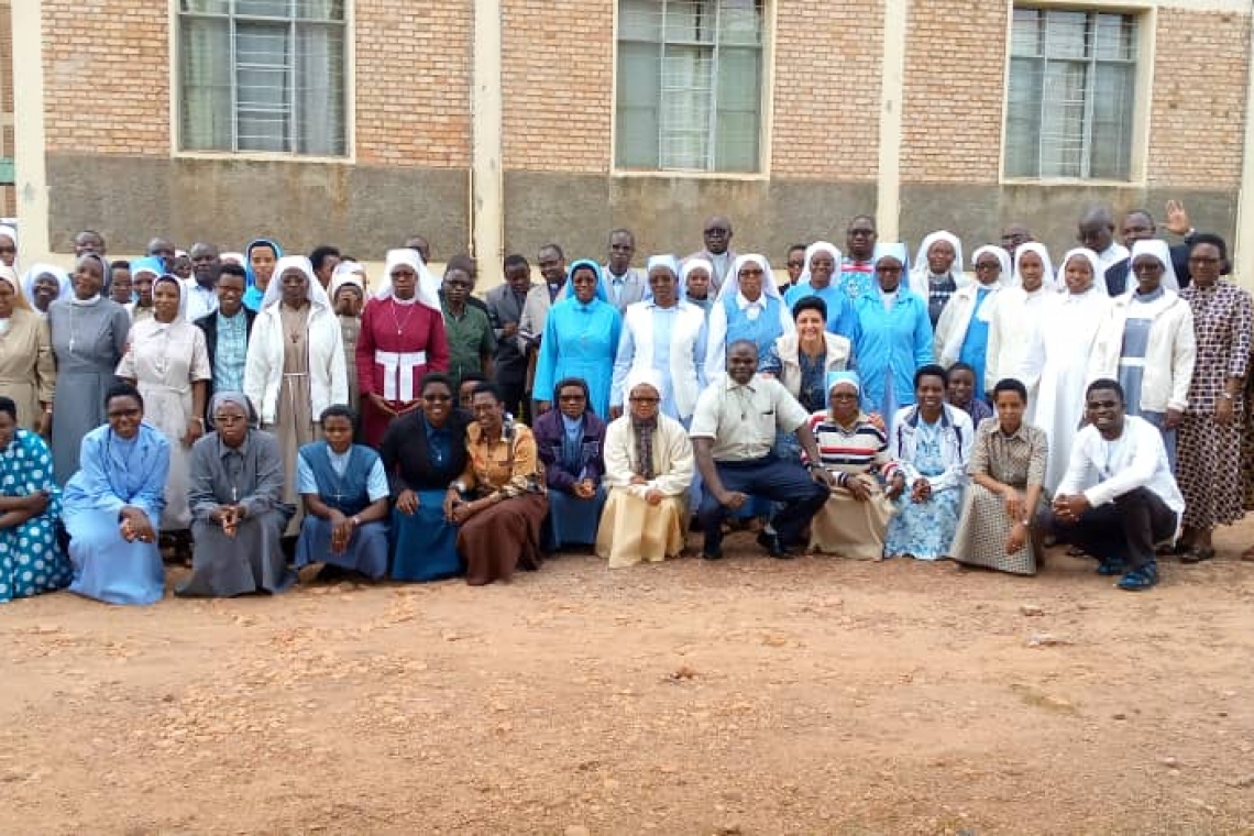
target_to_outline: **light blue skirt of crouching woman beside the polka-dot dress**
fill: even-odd
[[[64,511],[70,535],[70,592],[109,604],[154,604],[166,594],[166,568],[155,543],[127,543],[115,514]]]

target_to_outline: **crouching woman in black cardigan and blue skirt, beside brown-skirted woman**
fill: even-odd
[[[448,375],[428,372],[418,391],[419,409],[387,425],[379,449],[395,500],[395,580],[439,580],[464,572],[458,556],[458,528],[444,515],[444,498],[465,470],[466,425],[473,419],[455,407]]]

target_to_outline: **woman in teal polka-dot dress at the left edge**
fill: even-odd
[[[60,513],[48,445],[20,429],[18,405],[0,397],[0,604],[70,582],[70,562],[56,543]]]

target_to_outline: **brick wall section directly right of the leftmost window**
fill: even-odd
[[[470,164],[473,0],[357,0],[357,159]]]

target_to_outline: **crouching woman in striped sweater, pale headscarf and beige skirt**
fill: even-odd
[[[851,371],[828,375],[828,411],[810,419],[823,466],[836,476],[831,496],[810,523],[810,549],[879,560],[884,533],[904,490],[884,430],[861,411],[861,382]],[[884,490],[883,481],[890,488]]]

